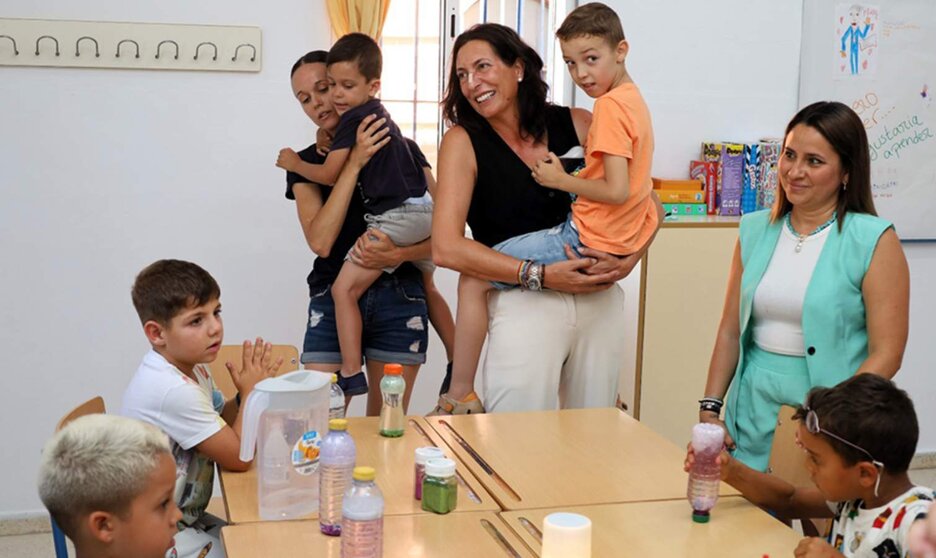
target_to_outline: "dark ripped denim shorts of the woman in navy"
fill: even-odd
[[[364,324],[361,340],[365,359],[399,364],[426,362],[429,311],[421,278],[384,275],[367,289],[358,305]],[[340,364],[331,284],[313,288],[306,326],[302,363]]]

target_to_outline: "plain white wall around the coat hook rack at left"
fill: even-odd
[[[119,409],[148,347],[129,289],[151,261],[217,278],[227,341],[301,346],[312,254],[273,162],[314,137],[289,68],[330,44],[324,3],[303,0],[6,0],[2,15],[256,25],[264,52],[256,74],[0,68],[0,516],[41,509],[58,417],[95,394]]]

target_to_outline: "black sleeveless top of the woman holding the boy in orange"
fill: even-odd
[[[468,132],[478,166],[467,219],[474,239],[494,246],[565,221],[572,206],[569,194],[537,184],[530,168],[487,120],[481,124],[480,131]],[[546,106],[546,134],[549,150],[556,155],[579,145],[568,107]]]

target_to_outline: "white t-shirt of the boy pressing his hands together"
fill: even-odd
[[[158,426],[169,436],[176,462],[175,500],[185,527],[204,513],[214,485],[214,461],[195,451],[195,446],[225,426],[220,414],[224,397],[215,389],[208,368],[196,366],[195,377],[197,382],[150,350],[124,392],[120,411]]]

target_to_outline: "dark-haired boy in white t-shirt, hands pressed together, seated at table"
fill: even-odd
[[[244,342],[240,368],[225,363],[238,395],[225,401],[208,367],[224,339],[221,289],[201,267],[159,260],[137,275],[132,290],[143,332],[152,349],[143,357],[123,397],[121,414],[144,420],[169,435],[176,463],[175,501],[182,510],[179,534],[167,558],[223,557],[223,522],[205,513],[214,484],[214,464],[232,471],[240,460],[243,413],[239,402],[272,376],[272,346]]]

